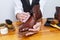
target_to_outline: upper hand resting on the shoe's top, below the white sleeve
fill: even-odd
[[[17,19],[24,23],[29,19],[29,17],[30,17],[29,12],[27,12],[27,13],[23,12],[23,13],[17,14]]]

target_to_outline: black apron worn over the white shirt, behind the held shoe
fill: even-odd
[[[32,15],[31,10],[34,5],[39,5],[39,1],[40,0],[32,0],[32,4],[30,5],[29,0],[21,0],[24,12],[30,12]]]

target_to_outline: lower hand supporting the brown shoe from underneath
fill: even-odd
[[[27,32],[25,36],[33,35],[37,32],[39,32],[41,26],[41,22],[37,22],[34,26],[33,29],[29,29],[30,32]]]

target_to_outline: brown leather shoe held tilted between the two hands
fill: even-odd
[[[37,20],[42,18],[42,13],[40,10],[40,6],[39,5],[35,5],[32,8],[33,11],[33,15],[27,20],[26,23],[23,23],[20,27],[19,27],[19,34],[21,33],[22,35],[26,34],[28,32],[29,28],[33,28],[34,24],[36,24]]]

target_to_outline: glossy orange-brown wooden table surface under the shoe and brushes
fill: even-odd
[[[44,20],[45,21],[45,20]],[[16,24],[14,24],[16,26]],[[60,40],[60,30],[52,27],[41,26],[39,33],[30,37],[19,37],[18,27],[15,32],[9,32],[7,35],[0,34],[0,40]]]

